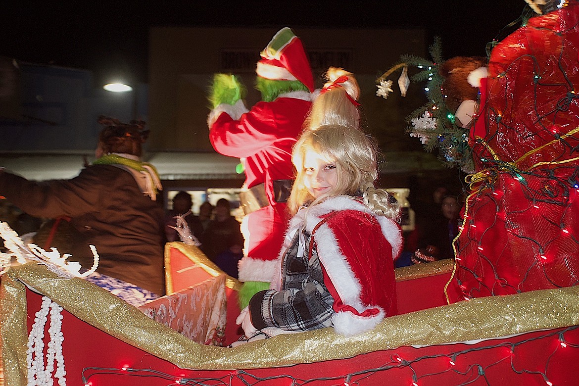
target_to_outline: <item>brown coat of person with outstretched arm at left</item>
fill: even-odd
[[[45,182],[0,172],[0,194],[33,216],[71,217],[80,235],[70,260],[89,257],[86,245],[95,245],[98,272],[164,295],[163,208],[129,172],[94,165],[78,177]]]

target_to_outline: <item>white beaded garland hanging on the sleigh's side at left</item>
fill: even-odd
[[[28,349],[26,350],[26,361],[28,365],[28,386],[52,386],[53,373],[58,379],[58,385],[66,386],[67,380],[64,370],[63,341],[64,336],[61,330],[63,315],[62,307],[54,303],[46,296],[42,297],[41,309],[35,314],[34,324],[28,335]],[[48,315],[50,314],[50,326],[48,334],[50,341],[46,350],[46,366],[44,362],[44,331]],[[56,362],[56,372],[54,371]]]

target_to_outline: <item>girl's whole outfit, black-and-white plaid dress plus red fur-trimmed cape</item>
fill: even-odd
[[[397,313],[393,260],[402,238],[393,220],[357,198],[332,197],[302,208],[285,240],[272,289],[251,299],[255,328],[334,326],[352,335]]]

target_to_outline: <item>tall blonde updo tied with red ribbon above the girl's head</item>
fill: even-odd
[[[346,76],[343,82],[342,76]],[[360,111],[355,102],[360,96],[360,86],[354,75],[343,68],[330,67],[325,78],[328,82],[314,100],[304,123],[306,130],[316,130],[328,124],[360,127]]]

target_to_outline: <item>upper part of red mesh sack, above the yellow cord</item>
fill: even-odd
[[[497,45],[489,61],[485,111],[485,141],[502,161],[519,160],[525,153],[555,140],[519,160],[527,170],[541,161],[569,159],[579,137],[557,141],[579,126],[579,6],[534,17]],[[475,145],[479,170],[492,159],[488,149]],[[573,156],[577,156],[575,153]],[[577,165],[577,161],[574,161]]]

